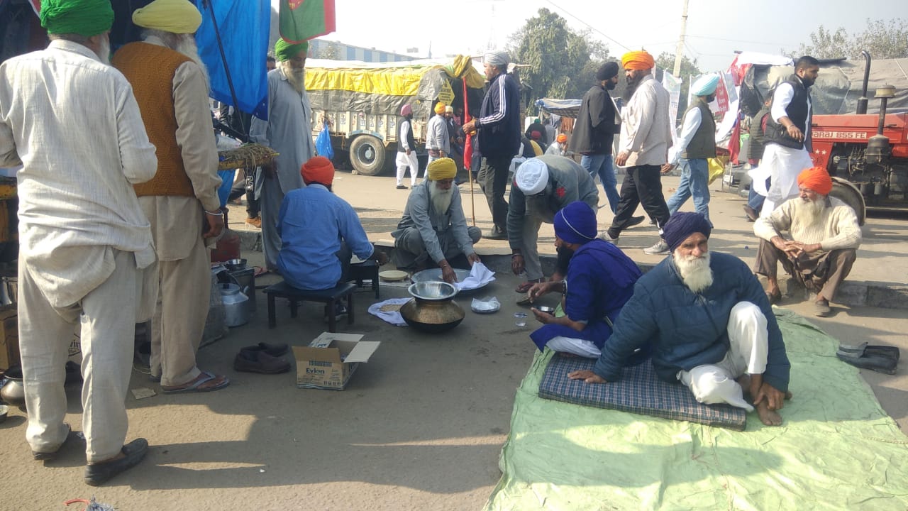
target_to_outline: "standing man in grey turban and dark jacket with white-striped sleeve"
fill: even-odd
[[[478,131],[479,186],[489,202],[495,226],[483,237],[507,239],[508,203],[505,188],[508,186],[508,167],[520,147],[520,90],[513,76],[508,75],[508,54],[489,52],[483,58],[489,89],[482,98],[479,117],[463,125],[465,133]]]

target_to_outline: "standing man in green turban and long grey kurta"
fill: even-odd
[[[262,207],[262,249],[265,266],[277,270],[281,252],[278,216],[284,195],[303,186],[302,164],[315,154],[312,143],[312,107],[306,94],[306,53],[309,43],[291,44],[278,39],[274,45],[277,69],[268,73],[268,120],[252,117],[249,138],[278,153],[255,176],[256,195]]]

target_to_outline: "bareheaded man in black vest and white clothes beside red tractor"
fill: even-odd
[[[763,162],[770,169],[770,185],[761,215],[798,195],[797,175],[814,166],[810,158],[814,118],[810,86],[820,73],[820,63],[804,55],[795,63],[795,74],[775,87],[773,105],[766,119]]]

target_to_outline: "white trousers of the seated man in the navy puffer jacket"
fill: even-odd
[[[769,353],[769,333],[766,317],[760,307],[739,302],[728,316],[730,347],[717,364],[696,366],[690,371],[678,371],[677,378],[690,388],[697,402],[706,405],[726,403],[748,412],[754,410],[745,401],[744,389],[735,381],[747,375],[762,375]]]

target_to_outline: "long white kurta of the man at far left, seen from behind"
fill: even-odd
[[[111,275],[107,247],[153,264],[133,184],[157,172],[154,146],[129,83],[87,47],[56,40],[0,65],[0,166],[20,163],[19,254],[52,306]]]

